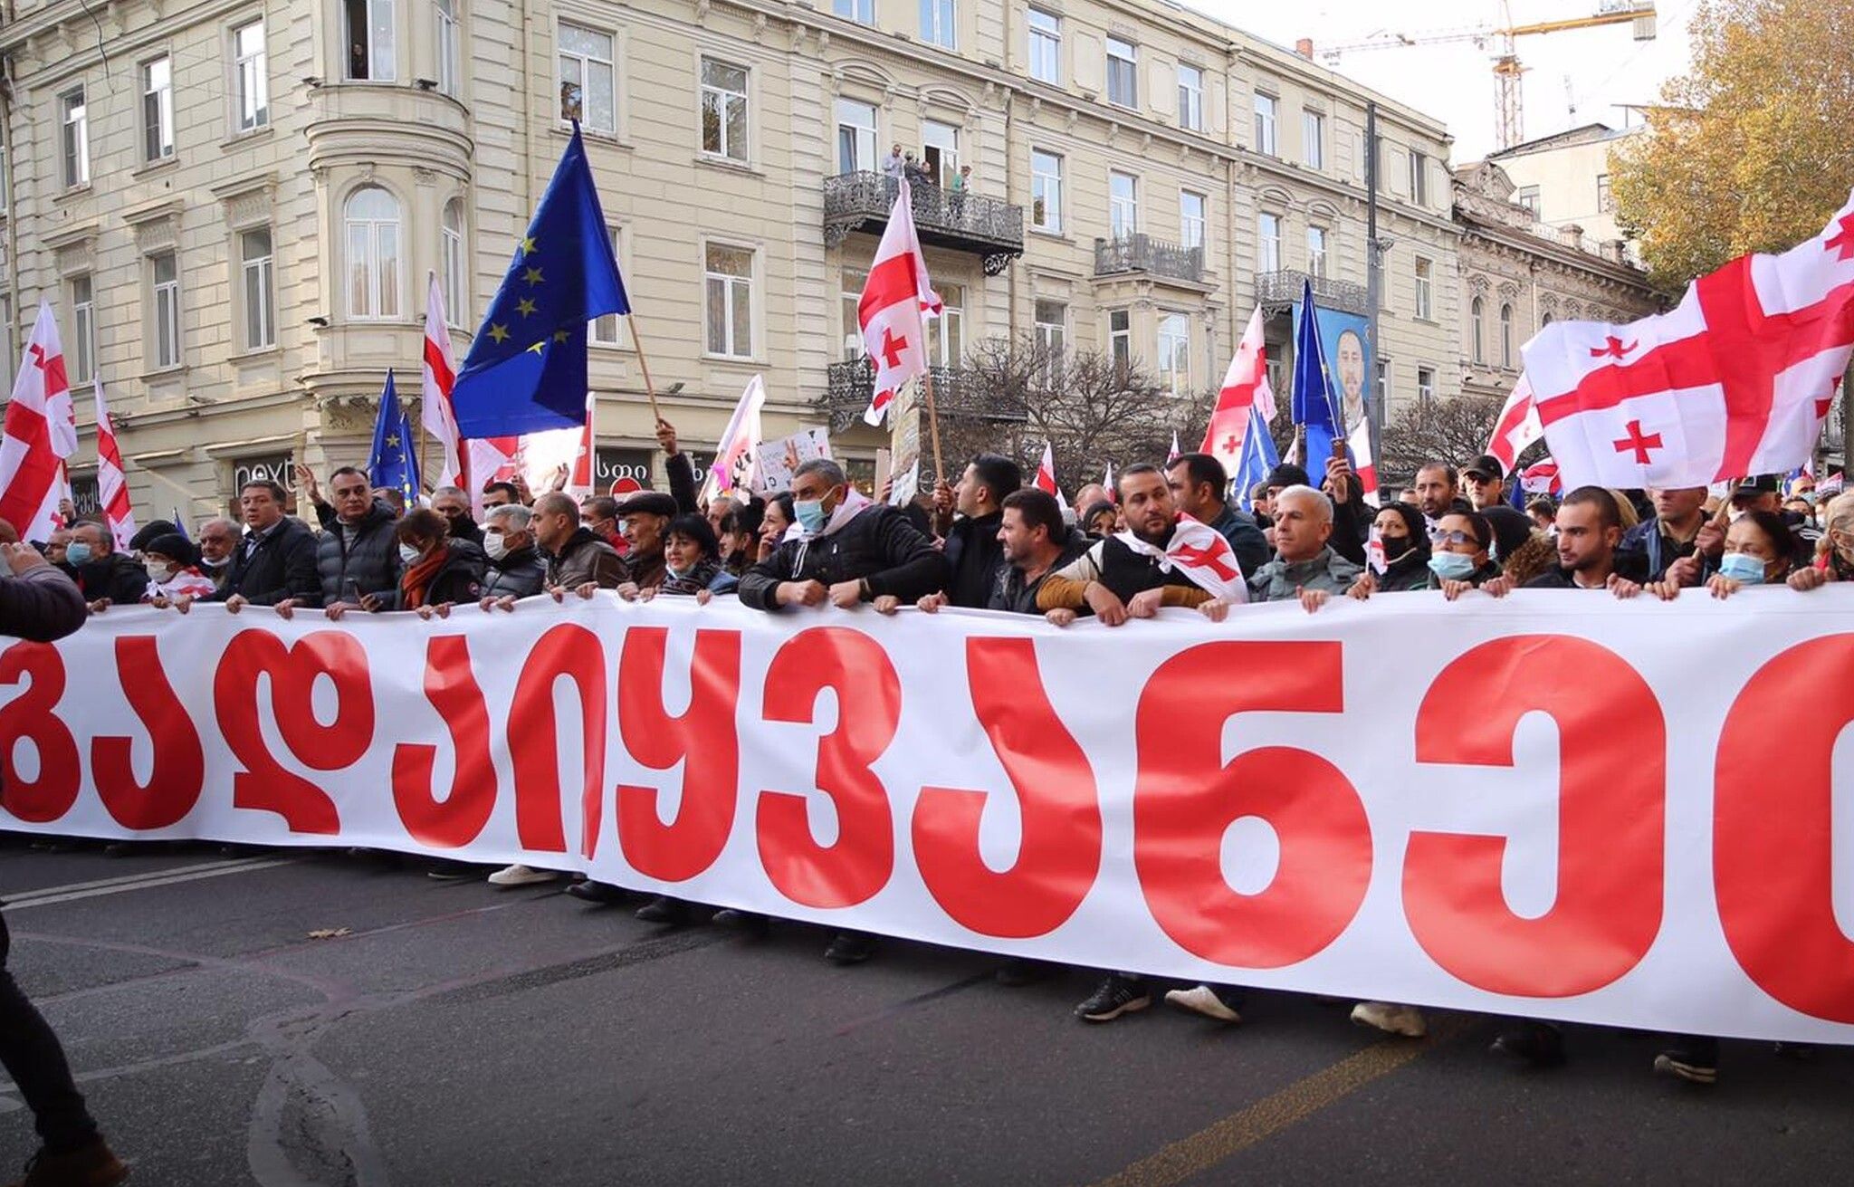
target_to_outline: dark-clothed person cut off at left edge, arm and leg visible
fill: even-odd
[[[4,523],[4,521],[0,521]],[[48,644],[83,625],[83,595],[6,525],[0,558],[11,575],[0,577],[0,634]],[[121,1183],[128,1178],[96,1131],[83,1094],[70,1079],[70,1063],[57,1035],[7,972],[9,937],[0,916],[0,1066],[19,1085],[43,1142],[28,1183]]]

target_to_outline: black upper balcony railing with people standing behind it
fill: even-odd
[[[871,236],[888,226],[897,182],[881,172],[845,172],[823,180],[823,241],[838,247],[851,232]],[[1023,208],[942,185],[914,184],[914,230],[921,243],[984,256],[984,274],[996,276],[1023,254]]]

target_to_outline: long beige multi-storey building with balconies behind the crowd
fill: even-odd
[[[942,184],[916,213],[947,367],[1036,334],[1185,397],[1257,302],[1285,345],[1303,274],[1363,312],[1376,100],[1385,389],[1459,389],[1446,128],[1157,0],[52,0],[0,57],[6,365],[50,300],[80,493],[100,378],[143,517],[363,460],[386,371],[417,395],[428,274],[467,351],[562,100],[638,313],[591,334],[601,484],[656,466],[638,339],[697,462],[760,373],[768,434],[829,419],[870,464],[847,360],[892,145]]]

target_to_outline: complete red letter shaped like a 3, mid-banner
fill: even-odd
[[[760,792],[760,864],[795,903],[853,907],[881,890],[895,868],[888,790],[870,764],[895,738],[901,681],[868,634],[812,627],[786,640],[766,670],[764,716],[808,725],[825,688],[836,694],[836,729],[818,738],[816,785],[836,803],[836,844],[812,840],[805,796]]]

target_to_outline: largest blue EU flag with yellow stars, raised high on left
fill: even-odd
[[[469,343],[451,406],[458,434],[504,438],[586,423],[586,323],[629,313],[578,124]]]

